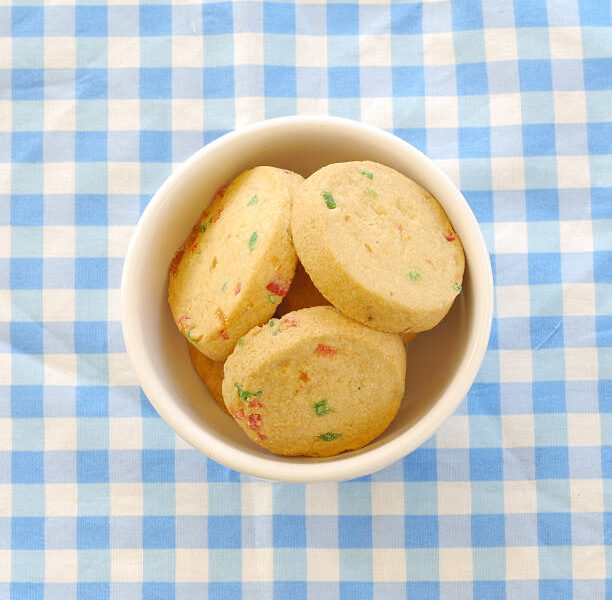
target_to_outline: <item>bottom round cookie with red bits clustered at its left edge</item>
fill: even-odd
[[[361,448],[404,395],[398,335],[316,306],[252,329],[225,363],[223,399],[255,443],[286,456]]]

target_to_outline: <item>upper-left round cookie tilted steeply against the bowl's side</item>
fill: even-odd
[[[221,188],[170,264],[168,301],[179,330],[223,361],[287,293],[297,257],[289,229],[302,178],[256,167]]]

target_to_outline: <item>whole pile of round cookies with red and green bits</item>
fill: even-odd
[[[440,204],[390,167],[306,180],[256,167],[218,190],[176,253],[169,303],[196,371],[253,442],[332,456],[389,426],[404,344],[444,318],[464,265]]]

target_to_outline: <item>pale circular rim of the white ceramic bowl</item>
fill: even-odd
[[[469,227],[474,232],[473,243],[476,250],[470,256],[470,271],[473,278],[475,271],[478,272],[481,283],[477,301],[482,306],[476,312],[472,328],[476,333],[470,334],[469,344],[460,359],[457,372],[435,405],[408,431],[400,433],[394,439],[378,447],[370,450],[367,450],[366,447],[366,450],[355,454],[339,454],[319,462],[292,462],[291,457],[275,456],[271,459],[265,456],[253,456],[220,440],[210,432],[198,428],[185,413],[175,409],[172,394],[157,379],[155,370],[148,366],[149,359],[144,349],[145,345],[141,341],[139,343],[139,338],[142,339],[142,336],[135,326],[136,319],[134,318],[135,311],[138,310],[134,302],[137,290],[133,283],[135,278],[131,274],[137,268],[136,249],[142,238],[143,230],[155,220],[158,208],[164,203],[177,182],[194,166],[203,162],[206,156],[223,145],[233,144],[243,136],[257,134],[264,129],[295,126],[333,126],[352,129],[355,132],[359,130],[362,134],[377,136],[379,140],[394,145],[397,152],[408,155],[411,161],[427,170],[430,176],[435,177],[444,188],[445,198],[452,197],[453,203],[462,213],[462,218],[469,221]],[[472,261],[475,258],[478,259],[478,264],[473,265]],[[258,121],[226,133],[192,154],[162,183],[140,216],[128,246],[121,276],[121,325],[127,354],[131,359],[140,386],[159,415],[191,446],[226,467],[255,477],[296,483],[339,481],[368,475],[403,458],[429,439],[446,418],[455,411],[474,382],[487,350],[493,321],[493,290],[489,252],[478,221],[463,194],[448,175],[429,157],[401,138],[360,121],[332,116],[289,116]]]

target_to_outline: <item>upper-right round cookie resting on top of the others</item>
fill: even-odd
[[[390,167],[319,169],[299,187],[293,243],[319,291],[374,329],[437,325],[461,291],[463,247],[440,204]]]

